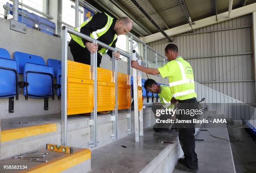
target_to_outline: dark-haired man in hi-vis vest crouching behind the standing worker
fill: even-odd
[[[147,79],[144,82],[144,88],[152,93],[157,93],[160,98],[161,103],[152,103],[151,109],[156,118],[156,124],[153,126],[154,131],[161,132],[165,130],[171,130],[173,123],[162,123],[162,121],[166,121],[168,119],[175,120],[175,114],[160,114],[161,110],[174,109],[175,103],[171,103],[172,101],[172,93],[169,86],[159,85],[153,79]]]

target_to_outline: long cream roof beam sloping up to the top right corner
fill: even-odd
[[[232,10],[233,15],[230,18],[227,18],[228,11],[218,14],[218,22],[215,19],[215,15],[208,17],[208,18],[201,19],[201,20],[197,20],[197,21],[195,21],[196,24],[193,25],[193,29],[202,28],[202,27],[212,25],[215,23],[219,23],[219,22],[223,22],[225,20],[229,20],[232,18],[237,18],[242,15],[247,15],[249,13],[253,13],[255,11],[255,9],[256,9],[256,3],[252,3],[250,5],[246,5],[244,7],[236,8],[236,9]],[[185,24],[185,25],[177,26],[175,28],[171,28],[169,30],[165,30],[165,33],[170,37],[173,35],[188,32],[190,30],[191,30],[190,26]],[[149,43],[149,42],[153,42],[156,40],[161,40],[163,38],[164,38],[164,36],[159,32],[159,33],[154,33],[152,35],[143,37],[142,41],[145,43]]]

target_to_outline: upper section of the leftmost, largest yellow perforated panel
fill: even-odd
[[[67,61],[67,77],[68,78],[82,78],[92,79],[91,66],[74,61]]]

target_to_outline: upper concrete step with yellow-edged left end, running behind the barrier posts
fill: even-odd
[[[149,108],[148,108],[149,109]],[[143,110],[144,111],[144,110]],[[127,136],[127,110],[118,111],[118,137]],[[110,114],[97,116],[98,146],[113,142],[110,135],[112,122]],[[133,117],[133,115],[132,115]],[[90,116],[69,115],[67,120],[67,145],[78,148],[87,148],[90,141],[90,125],[87,125]],[[144,127],[151,126],[151,113],[143,113]],[[27,122],[27,123],[18,123]],[[134,119],[132,118],[132,123]],[[132,124],[134,129],[134,124]],[[0,159],[26,153],[37,148],[44,148],[46,143],[61,143],[61,115],[37,115],[31,117],[9,118],[1,120]],[[134,133],[134,130],[133,130]]]

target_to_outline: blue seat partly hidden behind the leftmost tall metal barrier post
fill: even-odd
[[[57,84],[57,96],[59,97],[61,95],[61,60],[55,60],[49,58],[47,60],[47,65],[54,68],[54,78],[56,78],[56,84]]]

